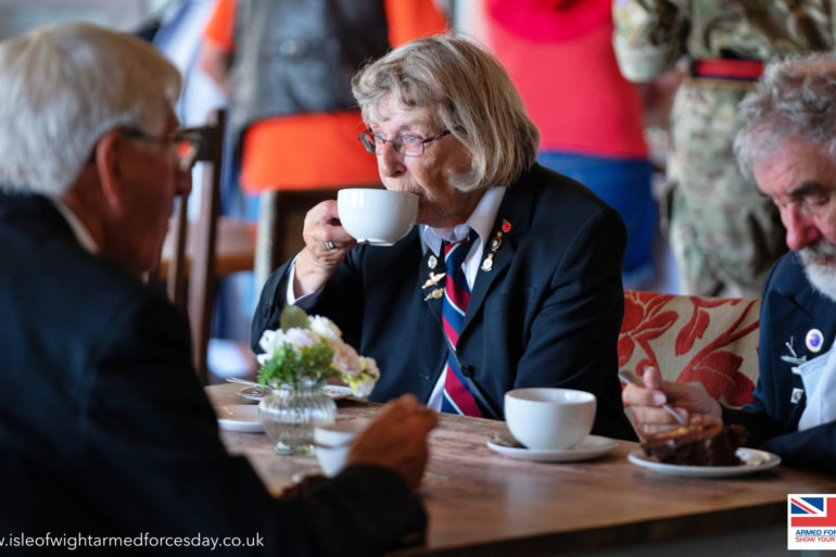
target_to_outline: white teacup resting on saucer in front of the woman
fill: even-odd
[[[511,435],[529,448],[554,451],[574,446],[590,434],[595,395],[549,387],[505,393],[505,421]]]

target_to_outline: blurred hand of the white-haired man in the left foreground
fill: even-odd
[[[429,458],[427,434],[436,423],[434,412],[405,394],[389,403],[357,438],[347,464],[392,468],[417,489]]]

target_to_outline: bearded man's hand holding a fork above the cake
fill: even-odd
[[[664,381],[655,367],[646,368],[642,380],[644,387],[629,384],[621,392],[621,400],[631,406],[641,434],[677,425],[673,416],[662,409],[663,403],[673,406],[686,422],[706,418],[722,420],[720,404],[697,385]]]

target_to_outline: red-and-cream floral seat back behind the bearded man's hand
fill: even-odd
[[[758,378],[760,300],[624,292],[619,369],[699,381],[726,406],[751,401]]]

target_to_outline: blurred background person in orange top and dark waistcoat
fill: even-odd
[[[263,194],[256,283],[273,270],[282,192],[379,183],[356,156],[363,119],[349,81],[391,47],[444,31],[433,0],[217,0],[200,63],[230,99],[227,197]],[[239,176],[240,169],[240,176]],[[231,190],[231,191],[230,191]],[[249,205],[254,206],[253,203]],[[286,214],[287,216],[287,214]],[[268,248],[269,246],[269,248]]]

